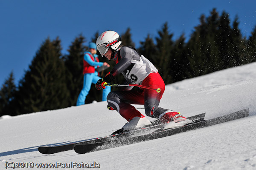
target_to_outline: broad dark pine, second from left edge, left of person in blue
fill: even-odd
[[[29,65],[20,81],[17,113],[39,112],[68,106],[70,98],[67,90],[64,61],[61,57],[61,41],[47,38]]]

